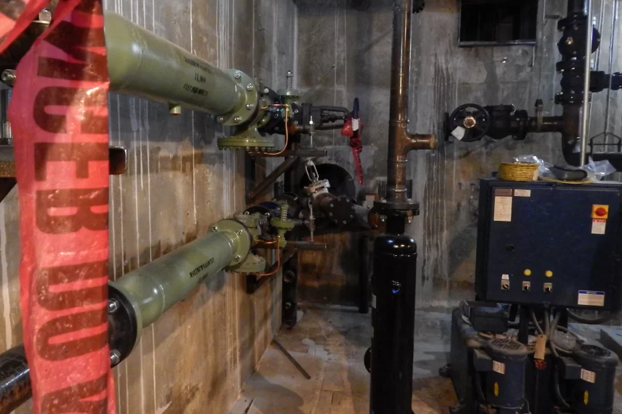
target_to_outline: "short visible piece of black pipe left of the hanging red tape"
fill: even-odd
[[[0,355],[0,413],[10,413],[32,397],[30,368],[23,345]]]

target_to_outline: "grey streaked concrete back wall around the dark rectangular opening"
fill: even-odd
[[[366,124],[361,155],[366,183],[359,190],[375,192],[377,179],[386,175],[393,1],[372,1],[365,12],[352,10],[346,0],[296,3],[301,39],[298,76],[304,99],[340,106],[351,106],[355,97],[361,99]],[[554,93],[560,90],[555,72],[560,37],[557,19],[565,16],[566,5],[564,0],[540,1],[535,48],[458,48],[458,1],[426,3],[424,12],[413,16],[410,130],[435,133],[439,148],[410,156],[409,177],[415,181],[414,195],[422,202],[422,215],[409,231],[420,252],[418,305],[445,308],[473,295],[478,180],[517,155],[536,154],[551,161],[561,161],[561,156],[557,135],[531,135],[523,142],[445,142],[444,113],[472,102],[512,103],[533,114],[536,98],[542,97],[545,116],[559,115],[561,108],[553,103]],[[595,3],[599,16],[600,2]],[[608,71],[612,2],[605,3],[601,70]],[[616,57],[614,68],[618,69],[614,71],[619,67]],[[594,98],[592,135],[603,130],[605,97],[603,92]],[[618,105],[619,99],[613,99],[612,130],[616,131],[619,115],[614,113]],[[323,161],[339,164],[354,174],[348,142],[339,132],[323,134],[316,141],[329,148]],[[328,239],[334,242],[335,236]],[[339,237],[338,242],[357,246],[350,235]],[[357,262],[346,254],[329,255],[324,262],[316,256],[301,261],[306,270],[300,282],[301,299],[342,304],[355,301]],[[334,293],[335,289],[341,293]]]

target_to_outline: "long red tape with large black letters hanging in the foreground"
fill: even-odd
[[[35,413],[110,414],[109,79],[101,0],[61,0],[53,22],[19,63],[9,110],[26,357]]]

